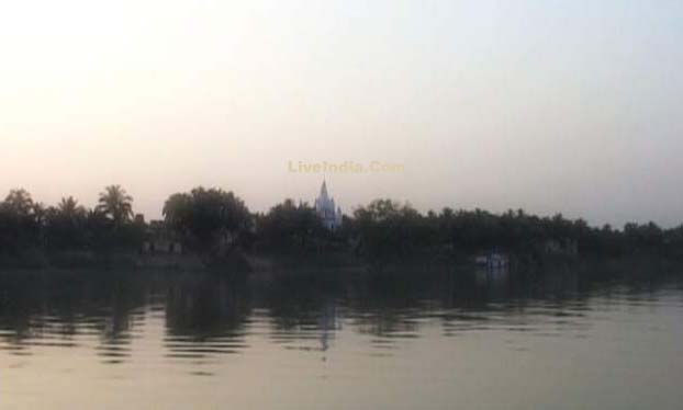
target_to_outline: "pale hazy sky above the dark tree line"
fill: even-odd
[[[3,1],[0,193],[683,221],[681,1]]]

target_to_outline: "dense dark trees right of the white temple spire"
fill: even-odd
[[[528,215],[524,210],[492,214],[482,209],[422,215],[410,205],[378,200],[361,206],[347,221],[349,238],[368,257],[418,250],[475,253],[492,250],[539,257],[544,253],[618,257],[634,253],[683,253],[683,226],[663,230],[653,223],[590,227],[583,219]],[[352,240],[351,240],[352,241]]]

